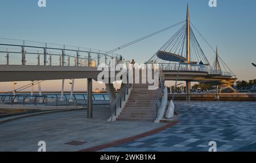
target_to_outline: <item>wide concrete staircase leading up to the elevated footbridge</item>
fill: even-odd
[[[154,121],[158,90],[148,90],[147,84],[133,84],[130,97],[117,120]],[[153,109],[154,108],[154,109]]]

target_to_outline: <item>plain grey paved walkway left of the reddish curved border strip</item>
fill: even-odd
[[[97,106],[94,119],[86,110],[57,112],[0,123],[0,151],[37,151],[38,141],[46,141],[47,151],[79,151],[138,135],[164,124],[118,121],[109,123],[108,107]],[[136,128],[136,129],[134,129]],[[71,141],[84,143],[68,145]]]

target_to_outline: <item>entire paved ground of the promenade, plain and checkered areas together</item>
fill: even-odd
[[[175,126],[114,147],[104,144],[163,127],[166,123],[106,122],[108,108],[32,116],[0,124],[0,151],[37,151],[46,141],[47,151],[205,151],[216,141],[217,151],[256,151],[255,102],[175,102]],[[68,145],[79,141],[82,145]],[[108,148],[107,148],[108,147]],[[97,149],[97,148],[95,148]],[[85,150],[86,151],[86,150]]]

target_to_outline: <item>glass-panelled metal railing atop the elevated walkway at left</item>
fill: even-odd
[[[2,65],[97,66],[122,56],[92,48],[0,38]]]

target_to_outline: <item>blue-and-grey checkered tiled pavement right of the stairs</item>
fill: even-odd
[[[256,151],[255,102],[175,102],[179,124],[101,151]]]

